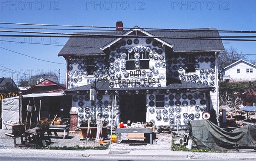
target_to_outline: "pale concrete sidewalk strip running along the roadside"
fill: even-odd
[[[1,155],[17,156],[45,156],[45,157],[73,157],[73,158],[148,158],[154,160],[168,159],[235,159],[235,160],[255,160],[256,152],[237,152],[237,153],[214,153],[214,152],[178,152],[170,150],[127,150],[123,153],[109,154],[110,150],[34,150],[34,149],[0,149]],[[117,152],[117,151],[111,151]]]

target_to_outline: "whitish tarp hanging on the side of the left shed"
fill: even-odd
[[[14,121],[20,122],[20,108],[19,108],[19,96],[12,98],[5,98],[2,100],[2,118],[4,121]],[[5,128],[5,125],[2,123],[2,128]],[[12,127],[8,126],[9,129]]]

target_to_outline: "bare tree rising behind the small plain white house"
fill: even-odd
[[[243,59],[246,60],[247,56],[242,52],[238,53],[236,47],[230,46],[224,52],[219,53],[218,55],[218,78],[220,79],[221,73],[223,72],[226,66]]]

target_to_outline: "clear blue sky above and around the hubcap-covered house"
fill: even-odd
[[[142,28],[167,29],[213,27],[219,30],[256,31],[256,0],[0,0],[0,22],[115,26],[116,21],[122,21],[124,27],[135,25]],[[31,27],[4,24],[0,26]],[[76,31],[41,30],[41,32]],[[255,36],[256,34],[220,33],[220,35]],[[57,56],[62,47],[51,45],[64,45],[67,38],[0,37],[0,40],[4,40],[0,41],[0,47],[42,60],[65,63],[63,57]],[[41,43],[50,45],[41,45]],[[225,49],[234,46],[238,52],[256,54],[255,41],[227,40],[223,41],[223,44]],[[248,55],[247,60],[256,60],[256,55]],[[47,63],[0,49],[0,65],[19,72],[19,76],[22,75],[21,73],[36,75],[42,71],[57,73],[61,69],[61,83],[64,83],[65,65],[57,63]],[[11,77],[13,71],[1,66],[0,78]],[[13,72],[15,81],[17,81],[17,72]]]

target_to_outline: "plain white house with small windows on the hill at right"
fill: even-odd
[[[256,81],[256,66],[244,60],[238,60],[224,68],[223,80]]]

